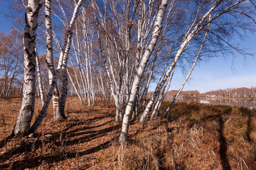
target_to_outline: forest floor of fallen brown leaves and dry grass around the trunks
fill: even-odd
[[[132,120],[121,146],[111,103],[69,97],[69,119],[54,122],[48,109],[36,136],[10,138],[20,106],[20,98],[0,99],[0,170],[256,169],[256,110],[177,102],[167,119]],[[37,98],[32,122],[40,107]]]

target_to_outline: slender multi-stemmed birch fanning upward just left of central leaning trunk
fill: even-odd
[[[131,28],[134,24],[137,1],[131,3],[130,0],[124,1],[123,4],[115,3],[113,0],[104,1],[104,15],[101,14],[103,11],[101,12],[98,5],[93,4],[100,56],[103,60],[102,66],[116,105],[116,122],[121,119],[121,107],[126,102],[123,92],[128,91],[127,75],[128,61],[131,55]],[[110,8],[107,7],[108,4]],[[118,13],[119,9],[122,9],[121,11],[124,13]],[[132,11],[131,15],[130,11]],[[107,12],[110,17],[106,16]]]

